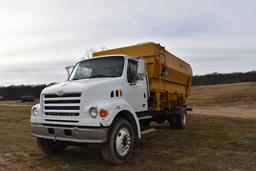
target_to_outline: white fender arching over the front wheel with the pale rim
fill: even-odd
[[[133,108],[124,100],[124,99],[118,99],[118,100],[104,100],[104,101],[98,101],[97,106],[101,109],[106,109],[109,111],[109,115],[106,118],[102,118],[99,122],[103,126],[110,126],[118,113],[126,110],[129,111],[137,125],[137,132],[138,132],[138,138],[141,138],[141,130],[140,130],[140,123],[139,119],[133,110]]]

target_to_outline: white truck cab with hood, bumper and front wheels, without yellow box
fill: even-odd
[[[70,143],[102,143],[114,164],[131,155],[141,137],[136,113],[148,110],[143,58],[108,55],[78,62],[67,81],[45,88],[32,107],[31,129],[47,154]]]

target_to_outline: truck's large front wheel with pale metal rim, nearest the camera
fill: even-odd
[[[102,148],[102,156],[109,163],[119,165],[129,159],[134,147],[132,125],[125,119],[117,119],[109,135],[108,143]]]

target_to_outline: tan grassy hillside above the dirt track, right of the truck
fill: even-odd
[[[188,102],[194,106],[214,104],[256,106],[256,82],[194,86]]]

